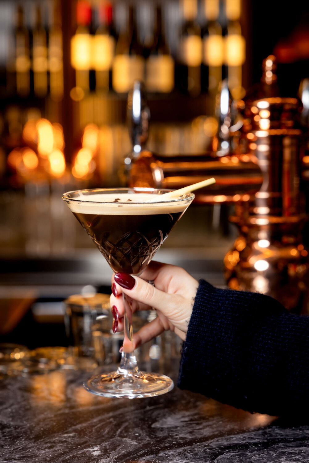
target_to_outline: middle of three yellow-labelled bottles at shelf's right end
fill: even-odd
[[[205,0],[204,7],[207,25],[202,32],[202,89],[214,97],[222,80],[224,60],[222,29],[218,22],[219,0]]]

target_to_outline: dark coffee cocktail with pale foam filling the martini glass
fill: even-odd
[[[161,199],[159,194],[98,193],[91,195],[96,203],[89,204],[86,196],[69,208],[114,272],[139,275],[188,206],[188,201],[161,204]]]

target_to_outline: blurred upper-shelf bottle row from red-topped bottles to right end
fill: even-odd
[[[240,16],[241,0],[78,0],[71,97],[108,91],[126,99],[141,79],[151,98],[170,101],[174,94],[214,95],[228,77],[238,98],[246,54]]]

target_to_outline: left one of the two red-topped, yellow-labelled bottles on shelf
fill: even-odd
[[[76,70],[76,87],[89,91],[89,70],[91,64],[91,7],[88,1],[76,4],[77,29],[71,38],[71,65]]]

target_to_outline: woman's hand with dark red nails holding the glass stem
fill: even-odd
[[[155,286],[148,281],[153,281]],[[134,348],[150,341],[164,330],[175,331],[185,340],[198,282],[184,269],[151,262],[140,277],[116,273],[112,282],[113,294],[110,302],[114,332],[123,330],[122,292],[133,299],[133,312],[152,307],[157,310],[158,317],[134,334]]]

